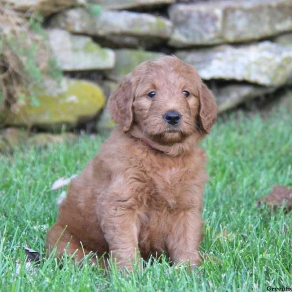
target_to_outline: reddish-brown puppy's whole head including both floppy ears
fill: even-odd
[[[175,56],[136,67],[110,96],[109,109],[124,132],[135,125],[162,144],[209,133],[217,115],[213,94],[197,71]]]

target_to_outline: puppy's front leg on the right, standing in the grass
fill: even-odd
[[[166,239],[169,256],[174,263],[200,266],[199,245],[202,240],[202,218],[198,210],[183,211],[172,222]]]

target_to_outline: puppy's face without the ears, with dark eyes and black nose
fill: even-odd
[[[134,122],[147,138],[174,143],[194,133],[201,79],[191,66],[176,58],[153,60],[137,68],[135,78]]]

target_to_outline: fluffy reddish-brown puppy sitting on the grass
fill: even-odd
[[[119,268],[166,253],[200,265],[206,157],[217,111],[197,71],[175,56],[140,64],[110,96],[118,128],[71,182],[49,252],[111,255]]]

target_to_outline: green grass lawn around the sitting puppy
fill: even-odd
[[[57,215],[61,190],[51,191],[52,183],[80,172],[102,141],[81,137],[0,157],[1,291],[266,291],[267,286],[292,285],[291,213],[255,206],[272,185],[292,186],[292,118],[285,110],[265,119],[233,115],[219,120],[203,142],[210,174],[201,244],[206,259],[194,273],[171,267],[166,259],[128,276],[114,268],[104,274],[86,263],[78,266],[70,258],[62,269],[54,259],[43,258],[25,270],[23,247],[44,256],[46,231]]]

